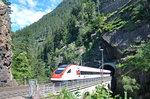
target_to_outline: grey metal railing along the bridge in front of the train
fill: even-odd
[[[40,86],[39,93],[40,96],[47,96],[48,94],[52,93],[57,95],[60,90],[63,88],[67,88],[71,92],[76,91],[77,89],[84,89],[91,86],[104,84],[108,81],[111,81],[111,77],[103,77],[103,78],[91,78],[86,80],[76,80],[76,81],[69,81],[69,82],[59,82],[54,84],[47,84],[44,86]]]

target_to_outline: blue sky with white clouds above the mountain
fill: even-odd
[[[12,30],[22,29],[51,12],[63,0],[9,0],[13,10],[11,17]]]

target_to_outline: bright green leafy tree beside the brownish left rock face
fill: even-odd
[[[28,31],[24,31],[24,38],[22,42],[17,41],[13,43],[13,62],[12,62],[12,74],[15,79],[23,80],[26,76],[28,79],[32,77],[31,73],[31,58],[30,46],[28,43],[31,41]]]

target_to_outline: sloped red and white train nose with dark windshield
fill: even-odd
[[[51,81],[52,82],[59,82],[64,81],[63,75],[65,73],[65,70],[67,69],[68,65],[61,65],[59,66],[52,74]]]

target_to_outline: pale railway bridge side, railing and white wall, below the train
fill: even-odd
[[[44,86],[40,86],[40,89],[37,90],[37,93],[40,93],[40,96],[46,97],[50,93],[57,95],[60,92],[60,90],[66,88],[73,93],[79,91],[82,95],[87,91],[92,93],[95,90],[95,87],[98,85],[104,84],[106,88],[111,88],[111,80],[112,77],[103,77],[86,80],[77,80],[71,82],[53,83],[50,85],[47,84]]]

